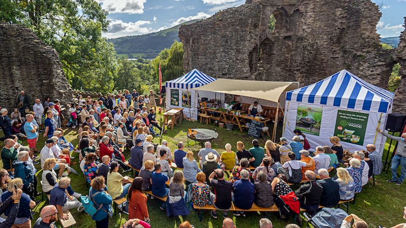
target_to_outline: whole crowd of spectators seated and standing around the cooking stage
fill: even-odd
[[[315,152],[310,153],[304,149],[308,144],[306,136],[298,129],[291,141],[285,137],[281,137],[279,143],[267,140],[264,147],[257,139],[248,149],[238,141],[235,152],[232,144],[226,143],[225,150],[219,153],[207,141],[198,152],[197,161],[193,151],[186,151],[181,141],[173,152],[166,140],[160,145],[153,144],[153,137],[166,132],[155,119],[154,97],[152,90],[145,96],[135,90],[132,94],[124,90],[117,96],[100,94],[98,100],[78,96],[77,102],[69,105],[67,125],[78,127],[77,147],[64,137],[61,128],[64,117],[58,100],[47,98],[41,103],[35,99],[30,111],[29,98],[21,91],[18,108],[10,117],[7,109],[1,109],[0,126],[5,134],[5,146],[1,154],[0,201],[8,205],[5,214],[9,218],[15,214],[10,223],[12,227],[31,227],[30,210],[38,203],[35,197],[39,195],[34,165],[39,163],[43,170],[41,187],[43,193],[49,195],[49,205],[41,210],[34,227],[50,227],[57,215],[69,219],[64,213],[67,210],[85,210],[80,201],[82,195],[74,191],[68,177],[70,172],[76,172],[71,167],[76,164],[72,152],[78,153],[84,181],[90,185],[86,195],[97,208],[91,218],[98,228],[108,227],[111,204],[122,198],[128,200],[118,208],[129,215],[123,227],[150,227],[148,197],[167,197],[160,206],[167,216],[189,215],[189,204],[211,204],[215,208],[210,212],[214,219],[218,218],[218,212],[222,213],[223,227],[235,227],[228,214],[232,204],[241,210],[249,210],[254,204],[259,207],[276,204],[279,208],[288,205],[292,213],[298,214],[299,208],[303,208],[314,215],[319,206],[335,207],[340,200],[353,199],[373,175],[382,171],[382,155],[373,144],[368,144],[365,150],[354,151],[352,158],[344,161],[345,149],[338,137],[330,137],[331,146],[316,146]],[[401,137],[383,134],[403,144],[406,138],[406,134]],[[37,141],[41,136],[46,140],[38,151]],[[21,140],[26,140],[28,146],[22,146]],[[123,149],[126,147],[130,148],[128,160]],[[392,162],[393,178],[388,180],[397,185],[406,176],[402,163],[403,156],[406,157],[404,148],[398,147]],[[134,179],[122,176],[131,170],[127,164],[136,170]],[[393,173],[398,165],[402,166],[400,178],[396,171]],[[329,171],[334,168],[336,175],[330,177]],[[296,191],[292,184],[298,186]],[[149,191],[151,194],[146,194]],[[9,199],[14,200],[14,204]],[[244,211],[233,211],[233,215],[247,216]],[[343,220],[343,225],[353,218],[359,219],[352,215]],[[300,224],[301,220],[297,222]],[[273,227],[266,218],[259,224]],[[192,225],[186,221],[179,227]]]

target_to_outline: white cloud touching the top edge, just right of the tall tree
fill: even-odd
[[[128,13],[142,14],[144,13],[144,3],[146,0],[97,0],[102,8],[109,13]]]

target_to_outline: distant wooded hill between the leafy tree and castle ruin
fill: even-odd
[[[182,24],[192,24],[196,21],[198,20]],[[153,59],[165,48],[170,48],[175,40],[179,41],[179,27],[182,24],[158,32],[123,36],[108,41],[114,44],[114,49],[120,57]]]

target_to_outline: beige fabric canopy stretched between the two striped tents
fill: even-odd
[[[297,89],[297,82],[268,82],[268,81],[248,81],[234,79],[217,79],[204,86],[194,88],[194,90],[211,91],[217,93],[227,93],[246,97],[279,102],[279,97],[286,91]]]

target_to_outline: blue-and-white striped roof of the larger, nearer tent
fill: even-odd
[[[286,100],[387,113],[394,96],[344,69],[318,83],[287,92]]]

